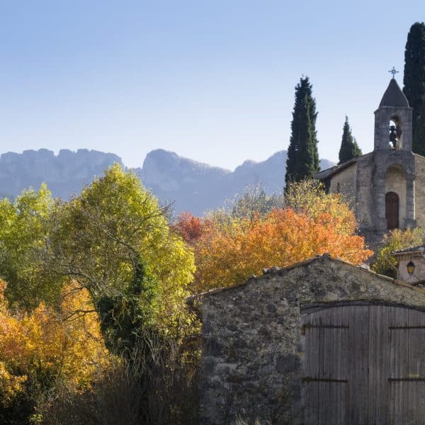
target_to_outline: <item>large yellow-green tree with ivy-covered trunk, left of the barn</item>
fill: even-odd
[[[142,323],[181,320],[193,254],[135,174],[114,164],[50,223],[45,271],[89,290],[110,346],[128,348]]]

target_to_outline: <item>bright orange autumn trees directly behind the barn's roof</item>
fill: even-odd
[[[183,215],[183,238],[192,234],[194,222],[200,229],[200,235],[188,239],[196,254],[193,292],[242,283],[263,268],[324,253],[354,264],[373,254],[354,234],[356,218],[339,194],[326,194],[318,183],[303,181],[288,188],[282,205],[265,215],[215,212],[204,222]]]

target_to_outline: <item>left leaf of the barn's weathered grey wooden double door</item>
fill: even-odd
[[[305,314],[303,333],[305,424],[365,424],[368,307]]]

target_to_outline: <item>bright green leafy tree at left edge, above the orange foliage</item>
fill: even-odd
[[[44,184],[38,191],[23,191],[13,203],[0,201],[0,275],[8,283],[11,305],[31,309],[41,301],[51,304],[60,293],[60,284],[44,275],[40,261],[49,234],[46,220],[54,208]]]

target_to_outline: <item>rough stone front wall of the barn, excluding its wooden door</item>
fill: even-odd
[[[302,423],[302,307],[370,301],[425,306],[425,290],[327,256],[273,268],[203,297],[201,424]]]

